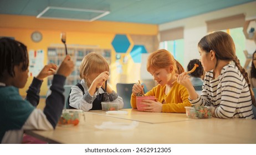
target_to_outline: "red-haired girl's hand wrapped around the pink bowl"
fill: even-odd
[[[161,104],[158,101],[143,100],[141,102],[141,104],[147,105],[145,107],[142,107],[142,108],[144,108],[144,111],[147,111],[147,112],[162,112],[163,104]]]

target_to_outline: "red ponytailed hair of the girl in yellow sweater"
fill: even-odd
[[[147,71],[150,71],[150,69],[168,68],[169,66],[173,66],[173,71],[177,74],[185,71],[183,66],[173,58],[173,55],[165,49],[154,51],[147,59]]]

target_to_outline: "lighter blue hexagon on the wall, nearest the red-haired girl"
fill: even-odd
[[[147,53],[144,45],[134,45],[134,48],[131,50],[131,58],[134,60],[134,63],[141,63],[141,54]]]

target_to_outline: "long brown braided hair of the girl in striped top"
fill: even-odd
[[[209,53],[211,50],[215,52],[217,61],[218,60],[229,60],[234,61],[235,66],[240,70],[245,81],[247,82],[252,97],[252,102],[256,105],[254,93],[250,87],[250,81],[248,74],[245,69],[240,65],[240,61],[235,55],[235,44],[232,37],[226,32],[214,32],[204,36],[198,43],[198,47]]]

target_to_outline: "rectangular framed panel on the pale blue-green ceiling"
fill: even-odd
[[[109,11],[96,9],[47,7],[41,13],[38,14],[37,18],[92,22],[96,19],[106,16],[109,13]]]

